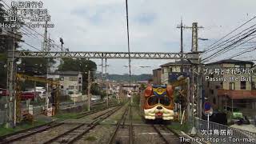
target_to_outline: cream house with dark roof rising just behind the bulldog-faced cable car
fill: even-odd
[[[188,73],[190,70],[190,62],[187,60],[169,62],[161,65],[161,84],[167,85],[170,83],[170,74],[181,73],[183,67],[183,72]]]

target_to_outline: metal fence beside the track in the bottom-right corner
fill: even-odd
[[[256,143],[256,133],[195,118],[197,134],[210,143]]]

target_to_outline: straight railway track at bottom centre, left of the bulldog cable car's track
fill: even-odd
[[[128,115],[129,114],[129,115]],[[127,117],[129,118],[129,125],[126,125]],[[132,126],[132,110],[131,107],[127,107],[125,112],[122,114],[122,118],[118,121],[118,124],[112,134],[108,144],[114,143],[129,143],[134,142],[133,139],[133,126]]]

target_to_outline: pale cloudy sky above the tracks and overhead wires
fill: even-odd
[[[4,0],[10,5],[10,0]],[[70,51],[127,51],[125,0],[43,0],[54,28],[50,38]],[[128,0],[130,51],[179,52],[180,30],[198,22],[199,50],[222,38],[256,14],[255,0]],[[255,23],[255,21],[254,21]],[[38,30],[43,34],[43,30]],[[191,50],[191,30],[184,30],[184,50]],[[42,37],[24,40],[41,49]],[[24,49],[33,48],[24,45]],[[225,58],[222,57],[222,58]],[[93,59],[98,65],[101,60]],[[107,61],[110,74],[128,74],[127,59]],[[152,74],[152,70],[172,60],[132,60],[132,74]],[[139,66],[151,66],[140,68]],[[101,70],[98,66],[98,70]]]

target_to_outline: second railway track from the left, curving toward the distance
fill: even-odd
[[[43,142],[43,144],[50,144],[50,143],[74,143],[78,141],[78,139],[82,138],[82,136],[86,133],[88,133],[90,130],[94,129],[95,126],[99,125],[99,122],[102,120],[110,117],[111,114],[114,114],[117,110],[120,109],[120,106],[117,108],[114,108],[113,110],[109,110],[104,114],[100,114],[97,117],[94,118],[92,122],[90,122],[89,125],[86,125],[86,123],[82,123],[76,127],[74,127],[71,130],[66,131],[63,134],[58,135],[55,138],[51,138],[47,142]]]

